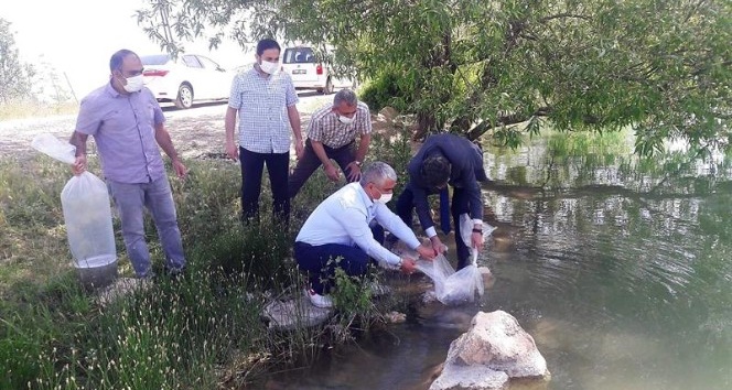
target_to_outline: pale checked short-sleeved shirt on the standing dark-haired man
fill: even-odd
[[[239,147],[255,153],[289,152],[287,109],[298,101],[292,79],[284,72],[265,77],[252,67],[236,75],[228,104],[239,110]]]

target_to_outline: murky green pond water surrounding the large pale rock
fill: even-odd
[[[639,160],[623,133],[485,150],[497,229],[482,302],[433,307],[273,388],[427,389],[478,310],[534,336],[549,389],[732,388],[729,158]]]

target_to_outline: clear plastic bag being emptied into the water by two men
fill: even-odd
[[[494,227],[483,224],[483,237],[491,234]],[[471,250],[471,263],[455,272],[450,266],[448,259],[440,254],[434,260],[418,260],[417,269],[432,279],[434,283],[434,294],[438,301],[445,305],[455,305],[465,302],[473,302],[475,293],[483,295],[483,277],[477,269],[478,249],[472,247],[471,235],[473,232],[473,220],[467,214],[460,216],[461,239]]]

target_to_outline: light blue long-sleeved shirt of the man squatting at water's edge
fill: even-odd
[[[375,239],[369,224],[376,219],[410,248],[420,242],[415,232],[384,204],[368,198],[359,183],[351,183],[323,201],[308,217],[295,241],[321,246],[341,243],[358,246],[366,254],[389,264],[399,263],[399,257],[381,247]]]

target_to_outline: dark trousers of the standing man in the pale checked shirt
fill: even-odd
[[[252,218],[259,218],[261,175],[267,164],[272,186],[272,219],[287,225],[290,219],[288,196],[290,152],[256,153],[239,147],[239,162],[241,163],[241,220],[248,223]]]

